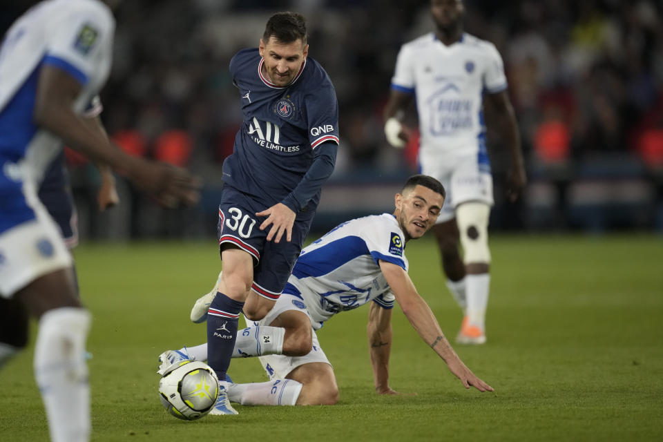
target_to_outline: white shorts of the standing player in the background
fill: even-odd
[[[421,173],[430,175],[442,183],[447,198],[437,218],[437,224],[455,217],[456,207],[468,201],[494,204],[492,197],[492,175],[488,165],[479,164],[477,155],[445,157],[444,161],[423,161],[420,159]]]

